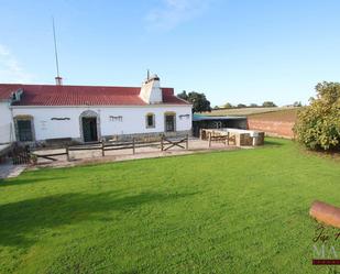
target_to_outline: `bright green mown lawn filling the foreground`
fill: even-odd
[[[339,162],[274,139],[26,172],[0,180],[0,273],[337,273],[311,265],[308,209],[339,194]]]

